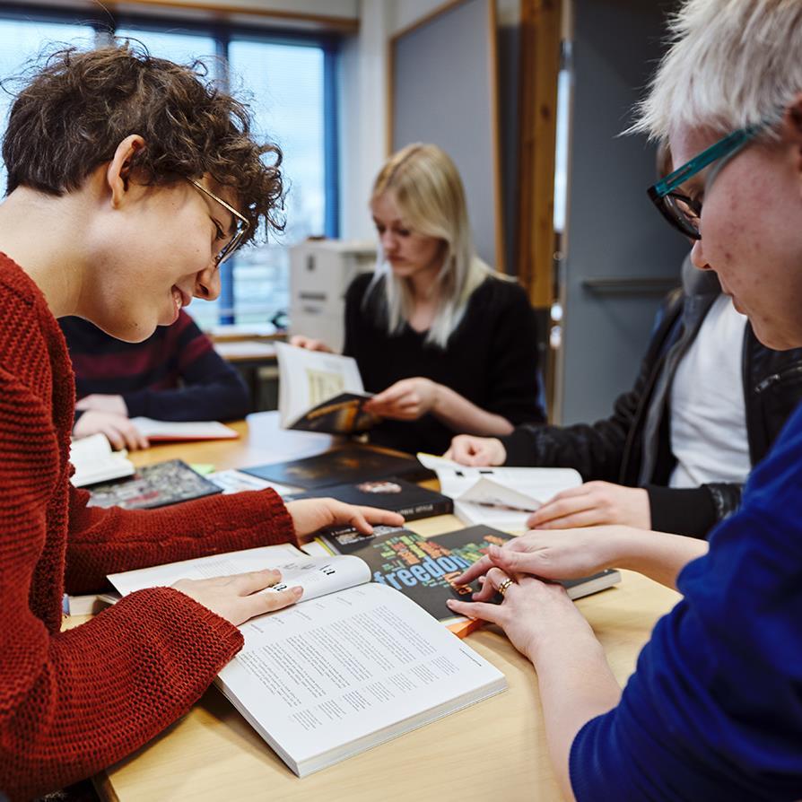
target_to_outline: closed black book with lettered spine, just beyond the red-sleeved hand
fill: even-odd
[[[346,504],[364,507],[379,507],[381,510],[399,512],[406,520],[431,518],[433,515],[448,515],[454,511],[454,501],[442,493],[427,490],[418,484],[406,482],[397,476],[387,479],[369,479],[355,484],[332,484],[309,493],[298,493],[287,497],[296,499],[318,499],[327,496]],[[350,531],[342,527],[338,531]]]

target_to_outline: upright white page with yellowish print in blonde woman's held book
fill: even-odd
[[[368,397],[356,360],[338,353],[323,353],[275,344],[278,357],[278,408],[283,429],[289,429],[310,409],[342,393]]]

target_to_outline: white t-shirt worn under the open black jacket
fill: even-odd
[[[742,360],[746,316],[721,295],[676,369],[671,386],[669,487],[742,483],[752,469]]]

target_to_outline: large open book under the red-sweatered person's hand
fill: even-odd
[[[215,682],[299,777],[507,686],[498,669],[422,607],[370,582],[358,557],[266,546],[109,580],[126,595],[266,567],[282,571],[278,588],[301,585],[301,602],[243,624],[245,646]]]

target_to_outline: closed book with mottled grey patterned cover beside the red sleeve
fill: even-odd
[[[138,468],[133,476],[95,484],[88,490],[90,507],[122,507],[124,510],[151,510],[222,493],[222,488],[180,459]]]

